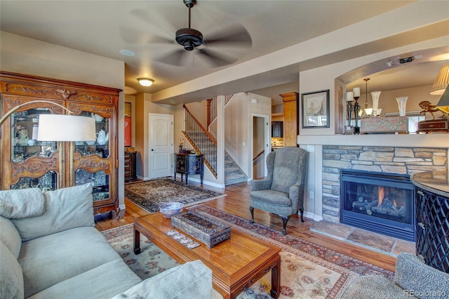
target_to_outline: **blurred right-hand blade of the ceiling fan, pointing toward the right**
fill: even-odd
[[[206,35],[205,35],[206,36]],[[253,40],[248,30],[241,24],[234,24],[220,29],[218,32],[207,34],[205,44],[207,46],[233,46],[250,48]]]

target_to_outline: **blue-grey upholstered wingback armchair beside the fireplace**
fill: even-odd
[[[278,214],[282,218],[282,234],[291,215],[301,213],[304,222],[304,187],[309,153],[299,147],[282,147],[267,156],[268,175],[251,181],[250,213],[254,222],[254,208]]]

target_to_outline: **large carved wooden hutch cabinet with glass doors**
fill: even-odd
[[[117,105],[121,90],[72,81],[0,72],[1,115],[25,102],[1,126],[1,190],[55,190],[91,183],[94,213],[119,212]],[[93,117],[97,140],[39,142],[41,114]],[[58,130],[56,127],[55,130]],[[101,138],[100,138],[101,137]]]

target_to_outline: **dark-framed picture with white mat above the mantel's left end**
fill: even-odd
[[[329,89],[302,93],[302,128],[329,128]]]

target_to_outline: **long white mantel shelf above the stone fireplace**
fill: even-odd
[[[297,135],[298,145],[356,145],[389,147],[449,148],[449,133],[434,134],[364,134]]]

